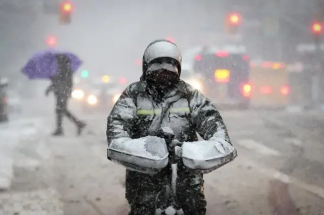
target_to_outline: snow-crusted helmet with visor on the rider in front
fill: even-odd
[[[172,64],[163,63],[164,61]],[[143,74],[147,71],[165,69],[176,72],[179,77],[181,73],[182,55],[178,46],[166,39],[152,41],[144,51]]]

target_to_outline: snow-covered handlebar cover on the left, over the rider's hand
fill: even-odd
[[[169,160],[166,141],[153,136],[112,140],[107,156],[127,169],[142,173],[155,173],[165,168]]]

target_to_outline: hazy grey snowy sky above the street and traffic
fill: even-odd
[[[26,82],[20,69],[37,50],[51,46],[74,51],[85,62],[80,71],[88,71],[89,78],[107,74],[130,83],[140,76],[144,48],[156,38],[171,39],[184,52],[202,44],[240,43],[251,60],[284,62],[291,71],[302,72],[292,74],[292,83],[303,80],[298,83],[303,89],[297,88],[296,94],[305,94],[298,100],[292,91],[295,103],[306,102],[311,77],[322,71],[318,69],[322,51],[314,47],[321,43],[315,38],[322,31],[321,0],[75,0],[69,21],[60,21],[64,9],[57,0],[0,4],[0,75],[12,84],[30,84],[25,93],[37,90],[37,85]],[[237,25],[228,22],[232,13],[239,16]]]

